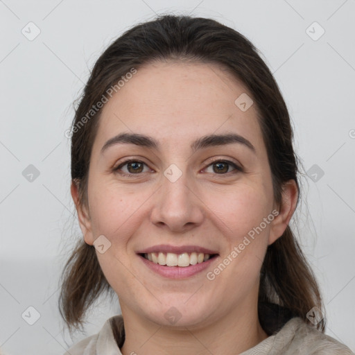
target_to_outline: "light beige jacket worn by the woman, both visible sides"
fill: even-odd
[[[105,322],[101,331],[71,347],[64,355],[122,355],[112,330],[123,345],[125,332],[122,315]],[[301,318],[291,318],[284,326],[261,343],[240,355],[354,355],[338,340],[323,334]]]

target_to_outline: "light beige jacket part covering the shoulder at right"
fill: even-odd
[[[292,318],[275,334],[275,343],[284,343],[287,347],[284,354],[309,355],[354,355],[354,353],[338,340],[322,333],[301,318]]]

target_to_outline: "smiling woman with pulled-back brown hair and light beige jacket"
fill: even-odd
[[[290,118],[245,37],[202,18],[135,26],[96,62],[71,135],[83,241],[61,313],[78,327],[113,290],[122,315],[67,354],[352,354],[324,335],[288,226]]]

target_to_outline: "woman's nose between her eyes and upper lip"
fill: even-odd
[[[162,176],[162,186],[155,194],[150,220],[171,232],[188,232],[202,223],[203,206],[187,173],[183,173],[175,182]]]

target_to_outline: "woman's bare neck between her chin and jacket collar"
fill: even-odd
[[[268,338],[255,304],[240,304],[204,326],[164,327],[122,306],[125,327],[123,355],[235,355]]]

